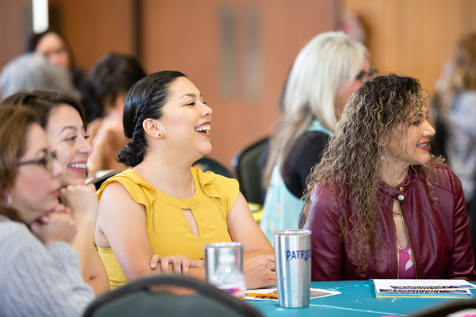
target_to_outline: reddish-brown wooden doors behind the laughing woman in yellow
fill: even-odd
[[[258,7],[261,89],[255,98],[228,98],[220,90],[225,4],[238,15],[250,4]],[[197,86],[213,109],[211,157],[229,166],[238,150],[269,135],[297,53],[318,33],[334,29],[337,8],[337,0],[143,0],[142,61],[148,72],[183,71]],[[242,36],[238,30],[237,43]]]

